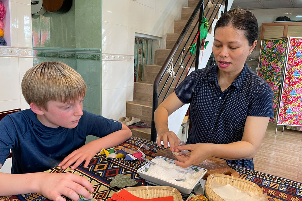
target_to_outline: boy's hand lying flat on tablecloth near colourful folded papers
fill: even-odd
[[[84,168],[87,168],[89,165],[90,160],[95,156],[97,153],[97,150],[94,148],[94,146],[89,145],[90,143],[85,144],[79,149],[76,149],[71,154],[66,156],[66,158],[59,163],[59,167],[62,167],[63,170],[68,168],[70,165],[72,167],[70,169],[74,170],[76,167],[78,167],[83,161],[85,161]]]

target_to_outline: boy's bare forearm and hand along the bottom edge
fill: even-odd
[[[0,168],[2,164],[0,164]],[[40,193],[54,201],[66,201],[61,195],[72,200],[79,200],[79,195],[91,199],[92,185],[84,177],[72,173],[0,173],[0,196],[10,196],[26,193]]]

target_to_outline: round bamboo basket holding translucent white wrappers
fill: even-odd
[[[209,186],[211,182],[216,181],[219,184],[226,185],[231,184],[232,186],[236,187],[238,190],[241,190],[243,193],[247,193],[248,191],[253,193],[262,193],[261,188],[251,182],[244,179],[240,179],[237,177],[232,177],[229,175],[224,174],[210,174],[207,177],[206,182],[206,196],[210,201],[224,201],[221,197],[219,197]]]

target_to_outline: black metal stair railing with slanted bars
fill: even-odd
[[[213,18],[214,11],[217,10],[217,12],[216,12],[216,14],[215,14],[215,17],[216,17],[217,14],[218,14],[218,11],[220,10],[220,7],[222,6],[223,1],[225,1],[225,3],[224,3],[224,6],[225,6],[224,11],[226,12],[226,11],[227,11],[227,3],[228,3],[228,0],[222,0],[221,3],[219,3],[220,0],[218,0],[217,3],[216,3],[215,9],[212,11],[212,14],[210,15],[210,17],[207,17],[207,14],[209,13],[210,8],[208,9],[207,14],[205,15],[205,17],[207,17],[207,19],[212,19],[212,18]],[[198,21],[196,22],[196,24],[195,24],[195,26],[194,26],[192,32],[190,33],[190,35],[189,35],[189,37],[188,37],[188,39],[187,39],[187,41],[185,42],[185,46],[187,45],[188,41],[190,40],[190,38],[191,38],[191,36],[192,36],[192,34],[193,34],[193,32],[194,32],[195,27],[196,27],[197,24],[198,24],[198,30],[199,30],[199,27],[200,27],[200,25],[201,25],[200,20],[201,20],[202,17],[204,16],[204,7],[208,5],[208,3],[210,2],[210,0],[207,1],[206,5],[204,5],[204,2],[205,2],[205,0],[200,0],[200,1],[198,2],[198,4],[196,5],[196,7],[195,7],[194,11],[192,12],[190,18],[188,19],[188,22],[186,23],[184,29],[183,29],[182,32],[180,33],[178,39],[177,39],[176,42],[175,42],[175,45],[173,46],[171,52],[169,53],[167,59],[165,60],[164,64],[162,65],[162,68],[159,70],[159,73],[157,74],[157,76],[156,76],[156,78],[155,78],[155,80],[154,80],[154,84],[153,84],[152,121],[151,121],[151,141],[153,141],[153,142],[156,142],[156,128],[155,128],[155,123],[154,123],[154,111],[156,110],[156,108],[157,108],[157,106],[158,106],[159,97],[162,95],[162,92],[163,92],[163,90],[164,90],[166,84],[168,83],[169,77],[170,77],[170,76],[168,76],[168,78],[165,80],[165,83],[164,83],[164,85],[163,85],[162,90],[160,91],[160,93],[158,93],[158,90],[159,90],[159,83],[162,81],[162,79],[163,79],[163,77],[164,77],[164,75],[165,75],[165,73],[166,73],[166,71],[167,71],[167,69],[168,69],[168,67],[169,67],[169,64],[172,62],[172,59],[174,58],[176,52],[178,51],[178,49],[179,49],[179,47],[180,47],[182,41],[185,39],[185,35],[188,33],[188,30],[189,30],[189,28],[191,27],[191,24],[193,23],[193,20],[195,19],[195,17],[196,17],[196,15],[197,15],[198,11],[200,11],[200,13],[199,13],[199,19],[198,19]],[[215,2],[215,0],[213,1],[213,3],[214,3],[214,2]],[[218,4],[220,4],[220,6],[219,6],[218,9],[216,9],[217,6],[218,6]],[[215,17],[214,17],[214,18],[215,18]],[[214,19],[212,20],[212,23],[209,24],[208,30],[210,30],[210,28],[211,28],[211,26],[212,26],[212,24],[213,24],[213,21],[214,21]],[[195,36],[194,36],[194,39],[196,38],[197,34],[198,34],[198,33],[196,32],[196,34],[195,34]],[[192,46],[194,39],[192,40],[190,47]],[[193,58],[192,63],[191,63],[190,66],[189,66],[189,70],[191,69],[192,64],[194,63],[194,60],[195,60],[195,69],[198,69],[199,49],[200,49],[200,48],[201,48],[201,42],[200,42],[200,39],[199,39],[199,36],[198,36],[197,45],[196,45],[196,55],[195,55],[195,57]],[[185,48],[183,47],[183,48],[182,48],[182,52],[184,52],[184,50],[185,50]],[[183,59],[182,59],[182,61],[181,61],[182,63],[184,63],[186,56],[189,54],[189,51],[190,51],[190,49],[188,48],[188,49],[187,49],[187,52],[185,53],[185,56],[183,57]],[[189,56],[191,57],[191,55],[189,55]],[[180,58],[180,55],[178,56],[177,60],[174,61],[175,63],[174,63],[174,65],[173,65],[173,69],[175,68],[176,64],[178,63],[179,58]],[[176,86],[177,86],[178,83],[180,82],[181,77],[183,76],[185,70],[187,69],[187,66],[188,66],[188,62],[186,63],[186,65],[185,65],[185,67],[184,67],[184,69],[183,69],[183,71],[182,71],[180,77],[178,77],[178,82],[177,82]],[[175,73],[176,75],[178,75],[178,72],[180,71],[180,68],[181,68],[181,67],[179,66],[179,67],[178,67],[178,70],[177,70],[176,73]],[[175,77],[172,79],[172,82],[170,83],[169,89],[167,90],[165,96],[163,97],[163,100],[164,100],[164,99],[166,98],[166,96],[168,95],[169,90],[171,89],[172,84],[174,83],[174,80],[175,80]]]

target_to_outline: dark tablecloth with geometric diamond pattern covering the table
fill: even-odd
[[[156,152],[164,149],[157,146],[156,143],[149,140],[132,137],[126,142],[114,147],[114,149],[120,149],[121,147],[138,149],[142,143],[145,143],[149,150],[141,148],[140,150],[146,154],[149,158],[154,158]],[[146,164],[145,161],[125,161],[124,159],[106,159],[105,155],[96,155],[90,162],[87,168],[83,168],[82,165],[75,170],[62,170],[55,167],[48,172],[65,173],[72,172],[74,174],[85,177],[94,187],[95,191],[92,193],[93,197],[98,200],[107,200],[112,196],[114,192],[117,192],[118,188],[109,186],[111,177],[116,174],[131,175],[135,181],[138,182],[137,186],[149,185],[144,179],[137,173],[137,169]],[[290,201],[302,201],[302,184],[284,179],[281,177],[275,177],[272,175],[264,174],[261,172],[249,170],[246,168],[230,165],[240,173],[240,178],[252,181],[258,184],[263,193],[267,193],[269,201],[290,200]],[[48,201],[45,197],[38,193],[30,193],[14,196],[0,197],[0,201]],[[68,199],[67,199],[68,200]]]

